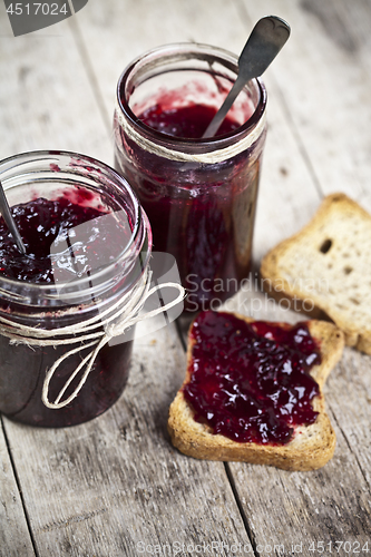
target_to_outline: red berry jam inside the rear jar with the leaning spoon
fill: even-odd
[[[180,92],[179,92],[180,95]],[[180,97],[182,98],[182,97]],[[167,95],[136,114],[168,136],[199,139],[216,113],[212,106],[177,106]],[[248,117],[247,117],[248,119]],[[240,124],[228,116],[217,135]],[[174,255],[188,295],[187,312],[218,309],[248,275],[262,138],[217,164],[194,164],[157,156],[124,129],[116,134],[116,167],[130,182],[146,211],[154,250]]]

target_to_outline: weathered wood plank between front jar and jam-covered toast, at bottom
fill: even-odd
[[[137,556],[231,540],[252,551],[223,463],[169,443],[184,359],[175,331],[158,331],[136,342],[126,391],[100,418],[62,430],[6,420],[39,555]]]

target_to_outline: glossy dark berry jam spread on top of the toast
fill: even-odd
[[[321,363],[307,324],[246,323],[228,313],[203,312],[194,321],[191,380],[184,397],[195,420],[237,442],[283,444],[294,427],[313,423]]]

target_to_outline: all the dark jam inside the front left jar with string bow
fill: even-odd
[[[88,189],[77,187],[55,201],[39,197],[13,206],[12,214],[28,255],[19,254],[0,218],[0,280],[3,276],[23,281],[27,291],[29,283],[33,286],[52,285],[58,278],[56,273],[62,273],[62,278],[68,282],[109,264],[127,245],[131,232],[129,216],[124,214],[127,222],[121,214],[117,221],[115,217],[107,221],[108,208],[99,205],[100,197],[98,201],[94,197]],[[79,226],[87,222],[89,226],[81,232]],[[104,295],[109,301],[114,292],[108,289]],[[33,305],[25,306],[28,314],[22,306],[23,314],[19,317],[16,301],[3,299],[0,300],[0,311],[17,322],[22,319],[32,326],[37,323],[41,329],[57,329],[97,315],[96,303],[105,303],[105,299],[100,295],[99,300],[92,297],[88,302],[87,306],[61,305],[59,311],[52,312],[50,307],[43,307],[41,297]],[[53,410],[41,400],[46,370],[71,348],[80,348],[80,352],[59,365],[51,380],[49,400],[55,401],[91,349],[86,349],[84,342],[67,346],[10,344],[9,338],[0,335],[0,411],[17,421],[42,427],[65,427],[90,420],[107,410],[121,394],[128,378],[131,346],[133,341],[104,346],[77,398],[67,407]],[[81,374],[74,379],[64,399],[74,392],[80,379]]]

